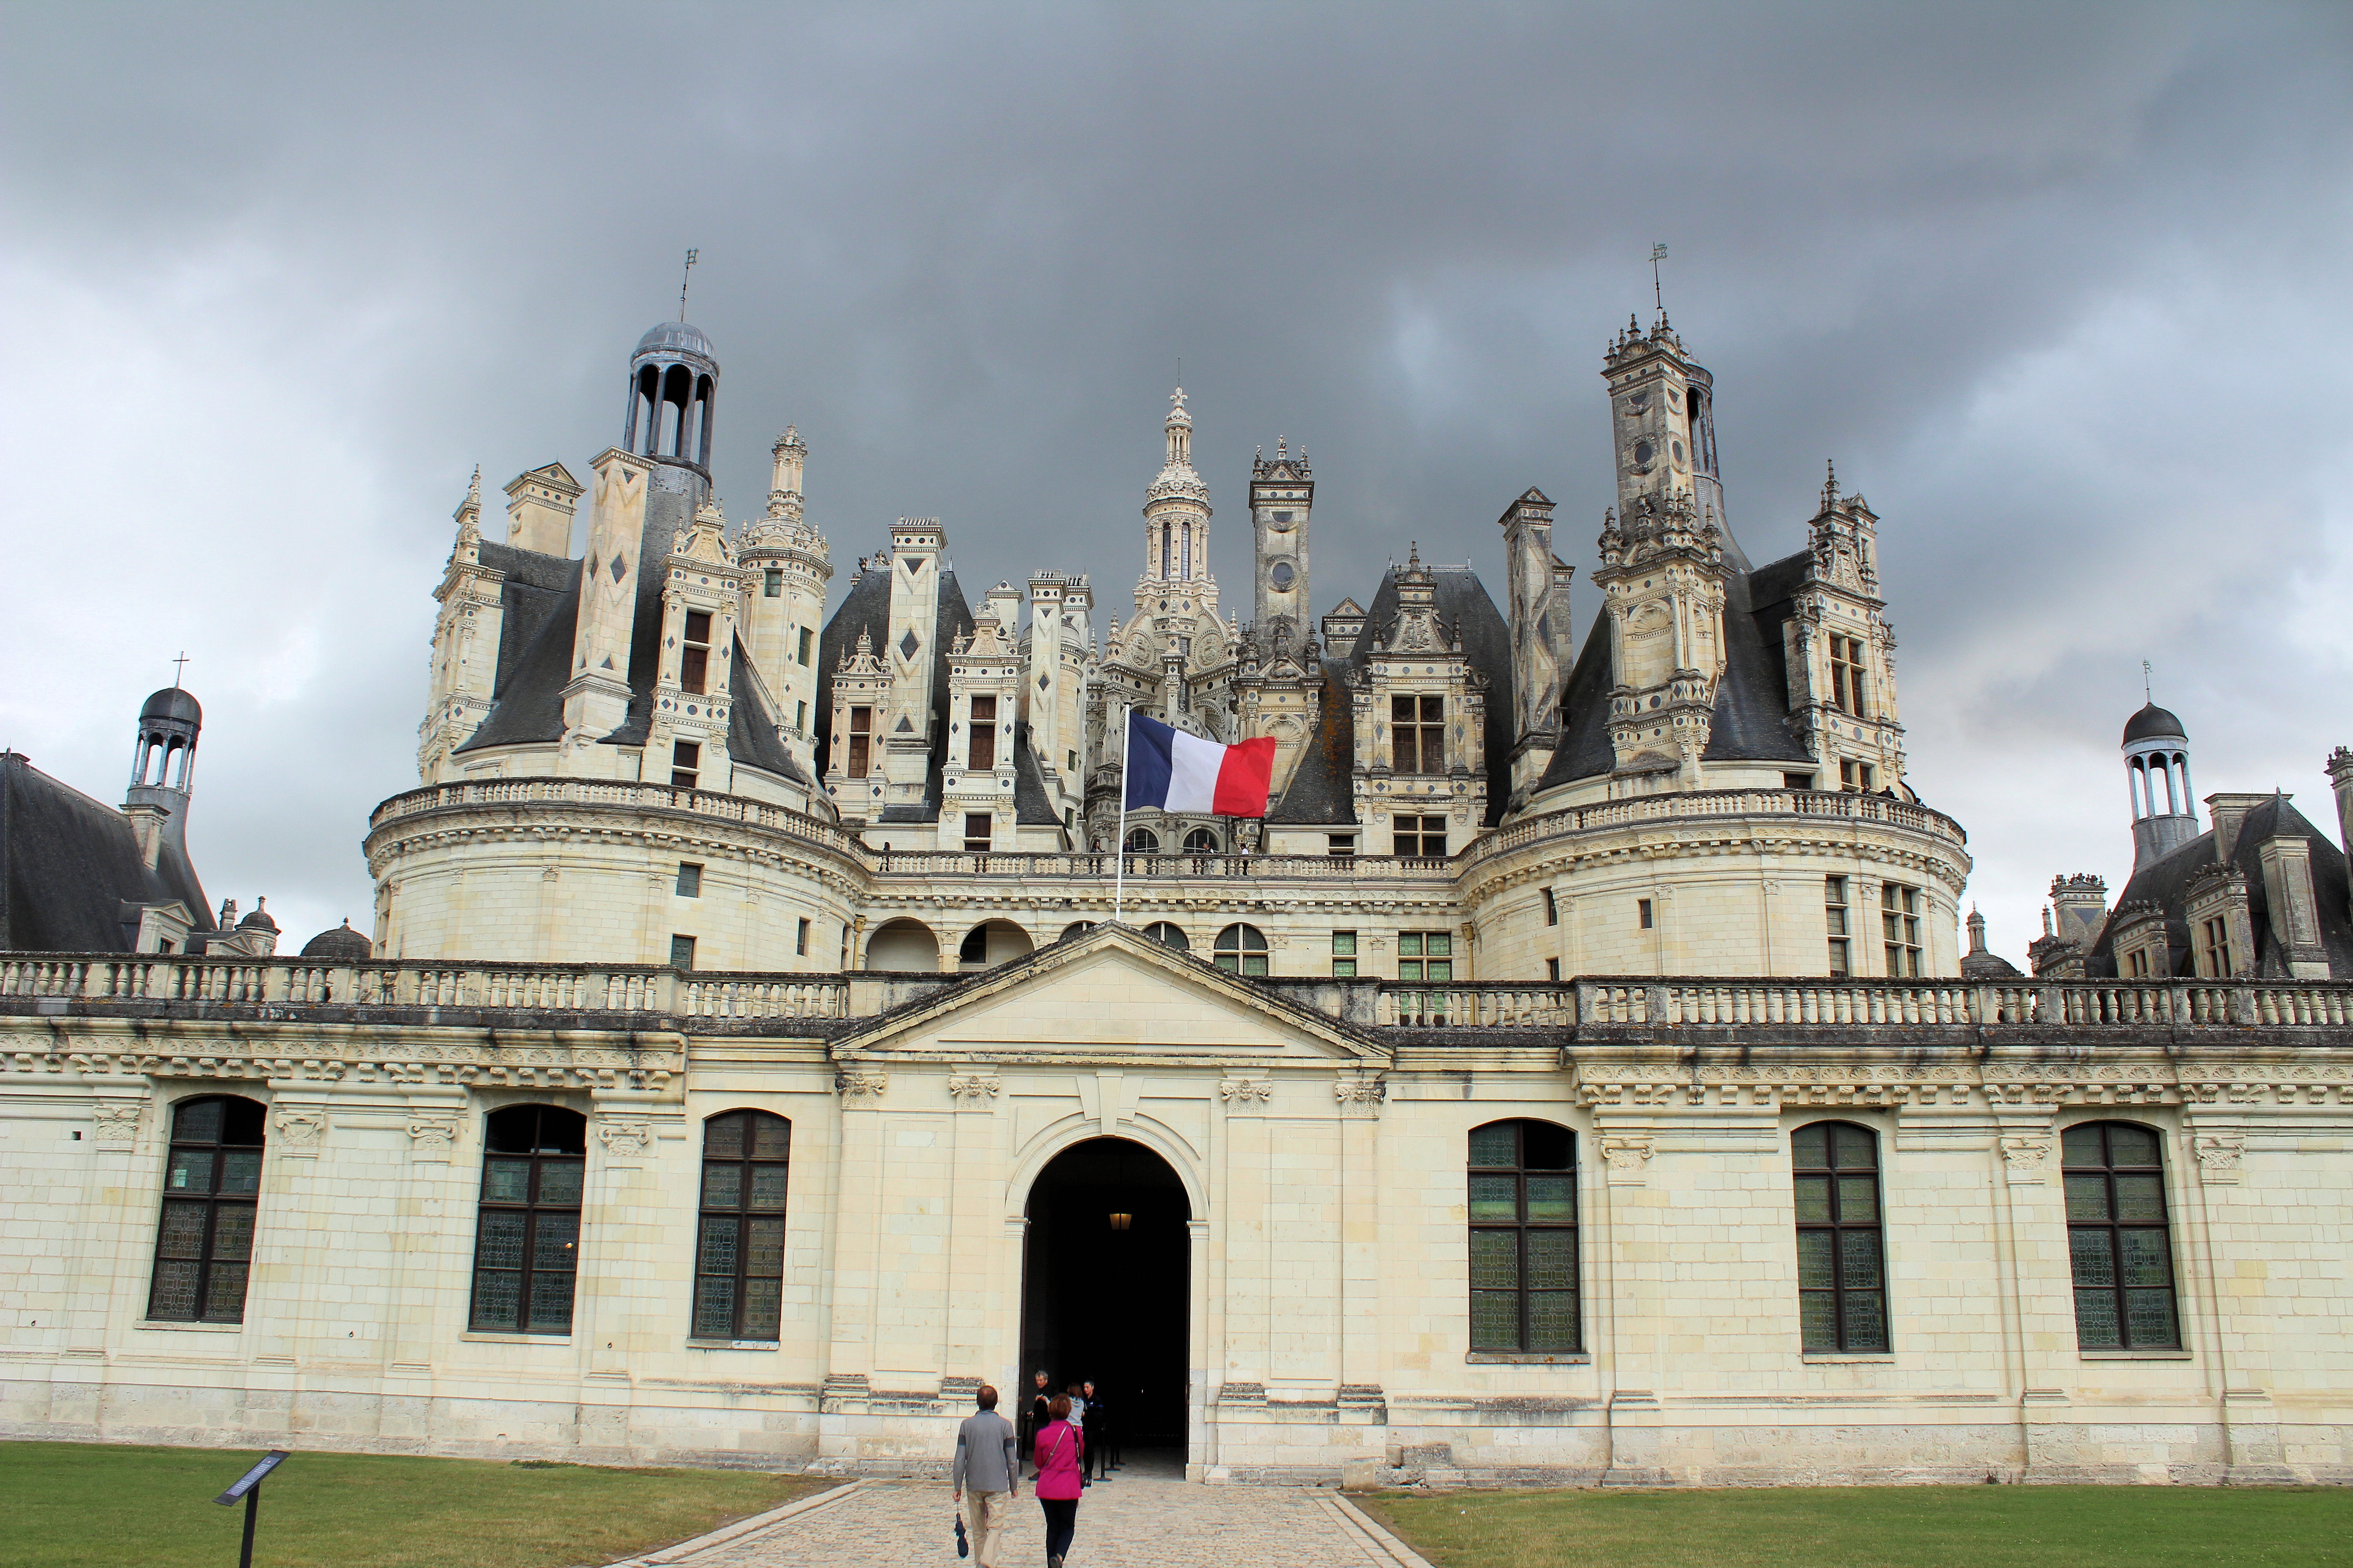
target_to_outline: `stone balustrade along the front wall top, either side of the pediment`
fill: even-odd
[[[871,1018],[913,997],[969,983],[927,973],[701,973],[642,964],[433,964],[212,959],[186,954],[26,952],[0,957],[0,1011],[113,1009],[205,1013],[266,1009],[456,1009],[576,1018],[635,1027],[661,1018],[741,1032],[746,1020]],[[2344,980],[1711,980],[1581,978],[1551,983],[1412,985],[1402,980],[1278,978],[1301,1006],[1348,1023],[1412,1030],[1882,1030],[2064,1027],[2242,1030],[2353,1027]],[[26,1006],[26,1004],[33,1006]]]

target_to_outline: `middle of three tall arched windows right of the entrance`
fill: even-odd
[[[1809,1352],[1887,1349],[1880,1253],[1880,1140],[1817,1121],[1788,1140],[1798,1197],[1798,1342]]]

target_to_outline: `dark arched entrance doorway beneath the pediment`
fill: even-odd
[[[1193,1206],[1165,1159],[1127,1138],[1056,1154],[1028,1194],[1021,1406],[1031,1373],[1094,1380],[1122,1448],[1186,1441]]]

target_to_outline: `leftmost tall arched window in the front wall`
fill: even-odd
[[[205,1095],[172,1107],[148,1316],[242,1324],[261,1201],[261,1105]]]

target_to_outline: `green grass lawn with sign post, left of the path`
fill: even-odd
[[[0,1563],[235,1568],[264,1448],[0,1443]],[[572,1568],[701,1535],[833,1481],[296,1450],[261,1483],[254,1568]]]

